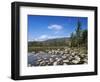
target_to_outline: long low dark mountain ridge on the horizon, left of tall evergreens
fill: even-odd
[[[69,37],[48,39],[45,41],[30,41],[28,46],[63,46],[69,42]]]

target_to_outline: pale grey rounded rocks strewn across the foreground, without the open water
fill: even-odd
[[[70,48],[60,50],[46,50],[46,52],[39,51],[38,53],[32,52],[33,54],[37,54],[37,66],[49,66],[49,65],[71,65],[78,64],[82,62],[82,64],[88,63],[87,54],[79,53],[78,50],[71,50]],[[59,53],[59,54],[58,54]],[[50,58],[42,57],[41,55],[49,55]],[[32,64],[28,64],[28,66],[32,66]]]

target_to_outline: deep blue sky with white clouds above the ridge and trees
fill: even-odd
[[[75,31],[78,19],[81,28],[87,29],[87,17],[28,15],[28,41],[69,37]]]

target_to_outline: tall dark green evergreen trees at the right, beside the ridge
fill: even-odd
[[[70,46],[71,47],[86,47],[87,48],[87,29],[82,30],[82,24],[78,20],[75,32],[71,33]]]

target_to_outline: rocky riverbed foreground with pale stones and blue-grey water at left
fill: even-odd
[[[87,64],[87,51],[80,49],[51,49],[28,53],[28,66],[56,66]]]

